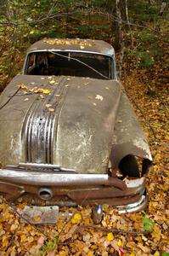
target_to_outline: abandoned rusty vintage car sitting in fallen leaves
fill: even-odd
[[[32,44],[22,73],[0,96],[0,130],[0,192],[8,200],[108,204],[119,212],[145,207],[152,158],[110,44]]]

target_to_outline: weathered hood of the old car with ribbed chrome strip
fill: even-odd
[[[81,173],[106,172],[121,98],[119,83],[18,75],[3,91],[0,106],[23,82],[29,90],[37,87],[50,93],[25,94],[20,90],[1,109],[3,166],[34,162],[57,164]]]

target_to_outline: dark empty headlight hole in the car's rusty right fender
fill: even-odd
[[[132,154],[128,154],[121,160],[119,169],[124,176],[140,177],[138,162]]]

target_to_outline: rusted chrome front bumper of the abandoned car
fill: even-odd
[[[11,201],[31,205],[103,205],[118,212],[138,212],[147,204],[144,177],[121,180],[108,174],[78,174],[73,170],[48,169],[43,165],[6,166],[0,169],[0,193]]]

